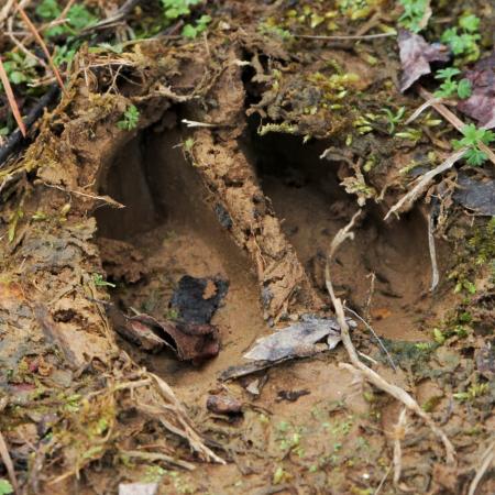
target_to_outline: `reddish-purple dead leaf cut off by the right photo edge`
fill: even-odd
[[[495,128],[495,53],[482,58],[464,77],[471,81],[472,95],[458,109],[486,129]]]

